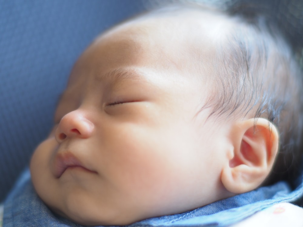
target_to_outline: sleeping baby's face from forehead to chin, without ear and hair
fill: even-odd
[[[193,67],[182,38],[157,19],[129,22],[79,58],[31,161],[35,189],[54,212],[125,225],[221,199],[225,125],[206,120],[207,110],[197,115],[209,71]],[[202,42],[208,62],[211,42]]]

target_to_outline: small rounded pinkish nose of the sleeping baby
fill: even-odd
[[[55,131],[55,138],[58,143],[72,137],[86,139],[92,135],[94,127],[80,110],[74,110],[62,117]]]

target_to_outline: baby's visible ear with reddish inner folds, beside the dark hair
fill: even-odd
[[[257,188],[269,175],[278,153],[278,130],[268,120],[241,120],[231,130],[233,154],[222,169],[221,181],[232,193]]]

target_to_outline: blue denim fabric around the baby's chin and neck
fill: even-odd
[[[302,177],[295,189],[287,182],[217,201],[204,207],[175,215],[150,218],[135,226],[227,226],[278,202],[295,202],[303,196]],[[25,170],[4,204],[4,227],[12,226],[82,226],[54,215],[39,199]]]

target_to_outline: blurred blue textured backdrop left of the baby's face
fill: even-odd
[[[0,0],[0,201],[47,136],[79,54],[140,0]]]

